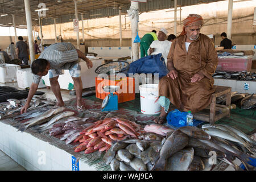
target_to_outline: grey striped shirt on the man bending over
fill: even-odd
[[[39,59],[46,59],[51,67],[61,73],[62,69],[69,69],[79,63],[76,47],[71,43],[55,43],[44,49]],[[39,84],[41,76],[33,75],[33,82]]]

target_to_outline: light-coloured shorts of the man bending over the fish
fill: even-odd
[[[62,69],[50,69],[49,70],[49,78],[54,78],[59,75],[62,75],[61,73]],[[79,63],[74,64],[71,68],[69,68],[69,73],[72,77],[78,78],[81,77],[81,66]]]

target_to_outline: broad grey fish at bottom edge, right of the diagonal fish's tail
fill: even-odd
[[[166,171],[187,171],[194,156],[192,147],[176,152],[167,160]]]

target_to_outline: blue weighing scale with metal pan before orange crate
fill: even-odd
[[[119,86],[113,86],[113,85],[107,85],[103,86],[102,89],[108,94],[102,102],[101,105],[101,111],[112,111],[112,110],[118,110],[118,96],[117,94],[113,94],[114,92],[117,92],[120,87]]]

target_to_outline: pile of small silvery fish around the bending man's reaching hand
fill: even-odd
[[[17,100],[16,98],[9,98],[7,99],[7,102],[2,102],[0,105],[0,119],[13,118],[14,116],[18,115],[22,107],[26,104],[26,101],[26,99]],[[27,111],[52,107],[54,105],[56,105],[55,102],[47,100],[43,96],[35,95],[32,98],[30,107],[27,109]]]

